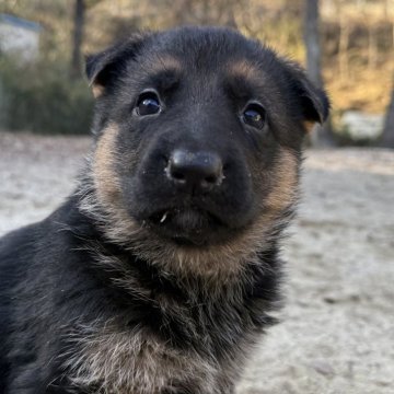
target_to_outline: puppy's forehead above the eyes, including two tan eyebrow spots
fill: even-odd
[[[135,60],[138,85],[182,82],[196,91],[196,97],[202,92],[220,94],[224,86],[234,96],[258,99],[276,90],[273,74],[281,68],[269,48],[236,32],[216,28],[158,34]]]

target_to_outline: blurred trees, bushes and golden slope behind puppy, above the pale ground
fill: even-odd
[[[394,0],[0,0],[0,128],[89,132],[83,55],[184,24],[236,27],[304,65],[333,101],[314,146],[394,147]]]

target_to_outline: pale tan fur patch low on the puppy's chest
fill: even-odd
[[[155,339],[146,328],[124,331],[115,322],[79,327],[69,338],[79,348],[68,358],[71,382],[97,386],[95,393],[160,394],[172,382],[188,381],[198,394],[221,393],[218,366],[194,350],[177,350]]]

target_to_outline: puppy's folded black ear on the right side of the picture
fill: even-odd
[[[288,63],[290,83],[301,105],[304,126],[312,129],[315,123],[323,124],[329,114],[329,100],[323,89],[315,86],[304,71],[294,63]]]

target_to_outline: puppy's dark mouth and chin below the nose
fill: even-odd
[[[223,243],[234,235],[219,218],[198,208],[179,208],[155,212],[148,223],[160,236],[183,246],[208,246]]]

